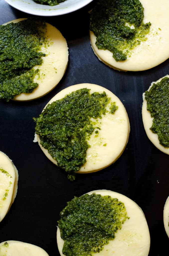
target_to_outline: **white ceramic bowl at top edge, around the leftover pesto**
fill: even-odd
[[[12,7],[33,15],[56,16],[71,13],[92,2],[92,0],[66,0],[55,6],[43,5],[33,0],[5,0]]]

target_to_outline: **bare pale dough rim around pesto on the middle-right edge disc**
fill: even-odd
[[[165,76],[165,77],[169,77],[169,75]],[[152,82],[151,86],[149,87],[148,91],[150,90],[150,88],[152,87],[153,83],[158,83],[160,82],[164,77],[160,78],[158,81],[156,82]],[[147,111],[147,101],[145,100],[144,97],[144,93],[143,93],[143,105],[142,105],[142,119],[143,119],[143,125],[144,125],[144,129],[146,131],[146,134],[149,138],[149,140],[154,144],[154,146],[156,146],[159,150],[161,150],[162,152],[164,152],[165,154],[169,155],[169,148],[168,147],[163,147],[160,143],[159,143],[159,139],[158,139],[158,135],[156,133],[153,133],[150,130],[150,127],[152,126],[153,123],[153,118],[150,115],[150,112]]]

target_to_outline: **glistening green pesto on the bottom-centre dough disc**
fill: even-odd
[[[74,197],[60,213],[58,227],[66,256],[91,256],[102,251],[127,219],[123,202],[93,193]]]

